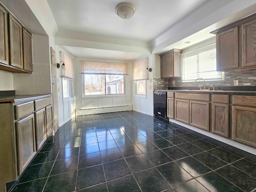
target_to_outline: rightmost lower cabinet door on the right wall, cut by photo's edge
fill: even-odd
[[[233,106],[232,139],[256,147],[256,108]]]

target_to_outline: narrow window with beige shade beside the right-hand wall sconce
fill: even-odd
[[[147,66],[147,58],[132,63],[132,80],[135,80],[136,95],[146,96],[146,79],[148,79],[148,73],[146,72]]]

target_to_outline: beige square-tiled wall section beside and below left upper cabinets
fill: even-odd
[[[18,95],[51,93],[50,64],[34,64],[32,74],[14,73],[13,82]]]

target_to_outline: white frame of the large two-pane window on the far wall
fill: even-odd
[[[107,89],[107,87],[106,87],[106,75],[108,75],[108,74],[102,74],[102,75],[105,76],[105,94],[92,94],[92,95],[86,95],[85,94],[85,90],[84,90],[84,88],[85,88],[84,75],[86,75],[86,74],[81,74],[81,75],[82,75],[82,85],[83,85],[83,97],[82,98],[126,96],[126,78],[125,78],[126,75],[118,74],[119,76],[122,75],[124,77],[124,93],[121,93],[121,94],[106,94],[106,91],[107,91],[106,90]],[[97,74],[95,74],[95,75],[97,75]]]

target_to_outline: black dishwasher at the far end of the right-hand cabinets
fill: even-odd
[[[166,118],[166,98],[166,92],[154,91],[154,115]]]

